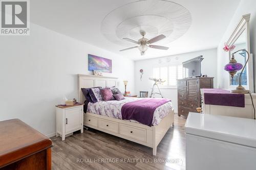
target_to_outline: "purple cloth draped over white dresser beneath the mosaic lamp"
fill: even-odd
[[[244,94],[230,93],[224,89],[204,88],[204,103],[207,105],[245,107]]]

